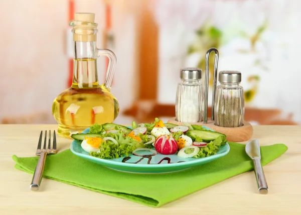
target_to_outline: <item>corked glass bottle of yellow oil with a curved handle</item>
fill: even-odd
[[[73,26],[74,59],[73,81],[53,102],[52,112],[58,122],[59,135],[71,138],[91,124],[113,122],[119,113],[119,104],[110,93],[116,64],[115,54],[96,47],[97,23],[94,13],[75,13]],[[97,57],[107,56],[109,65],[105,82],[99,84]]]

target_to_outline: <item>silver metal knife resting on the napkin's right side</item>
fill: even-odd
[[[252,139],[246,144],[246,153],[254,163],[254,171],[257,178],[258,190],[260,194],[267,194],[268,188],[261,165],[260,147],[258,139]]]

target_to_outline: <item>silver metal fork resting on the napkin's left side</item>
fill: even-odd
[[[43,137],[43,130],[41,131],[38,148],[36,151],[36,155],[40,155],[40,158],[38,160],[35,173],[33,175],[33,180],[30,184],[31,190],[38,190],[40,188],[41,180],[43,177],[43,171],[44,171],[44,165],[46,161],[46,155],[47,154],[55,154],[57,152],[56,150],[56,136],[55,136],[55,130],[53,131],[53,144],[51,148],[51,133],[49,130],[49,140],[48,140],[48,148],[46,149],[46,142],[47,142],[47,131],[45,130],[45,138],[44,138],[44,146],[43,149],[41,149],[42,146],[42,137]]]

